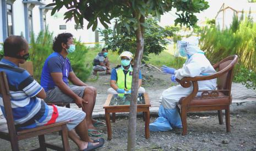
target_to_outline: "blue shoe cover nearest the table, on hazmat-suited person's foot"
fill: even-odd
[[[172,130],[172,126],[168,122],[168,120],[164,117],[159,117],[156,119],[154,123],[149,124],[150,131],[170,131]]]

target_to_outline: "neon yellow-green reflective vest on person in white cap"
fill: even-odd
[[[116,68],[117,72],[117,86],[119,89],[128,89],[132,88],[132,80],[133,80],[133,71],[128,71],[127,74],[124,74],[121,67]]]

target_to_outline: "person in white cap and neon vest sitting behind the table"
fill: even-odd
[[[121,65],[112,69],[110,86],[107,90],[109,94],[126,94],[131,93],[133,79],[133,54],[129,51],[123,51],[121,57]],[[139,71],[139,94],[143,94],[145,89],[141,87],[142,75]]]

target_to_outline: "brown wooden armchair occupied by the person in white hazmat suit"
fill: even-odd
[[[200,77],[184,77],[177,80],[184,88],[193,84],[193,91],[187,97],[182,97],[178,102],[178,109],[181,115],[183,132],[187,134],[187,113],[198,111],[218,111],[219,123],[222,124],[221,110],[225,109],[226,131],[230,132],[230,104],[232,102],[231,84],[233,78],[233,68],[238,61],[237,55],[226,57],[216,63],[213,67],[217,71],[215,74]],[[217,78],[217,90],[198,91],[198,81]],[[201,96],[197,96],[201,92]]]

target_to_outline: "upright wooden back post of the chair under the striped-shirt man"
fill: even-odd
[[[2,95],[4,114],[6,115],[9,135],[10,137],[14,137],[16,135],[16,129],[14,125],[13,112],[10,102],[10,92],[6,73],[4,73],[3,71],[0,72],[0,95]]]

